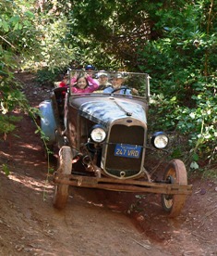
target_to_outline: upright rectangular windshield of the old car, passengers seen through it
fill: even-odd
[[[147,73],[105,70],[69,70],[70,95],[112,94],[115,96],[150,96]]]

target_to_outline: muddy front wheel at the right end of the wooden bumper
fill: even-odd
[[[171,160],[164,173],[164,180],[171,184],[187,185],[187,170],[183,161]],[[187,195],[162,195],[163,210],[170,217],[176,217],[182,211]]]

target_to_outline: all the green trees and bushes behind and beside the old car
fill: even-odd
[[[39,86],[67,67],[151,75],[150,129],[175,134],[171,155],[191,170],[217,160],[217,5],[214,0],[73,0],[0,3],[1,139],[12,110],[35,114],[15,79],[37,73]],[[214,173],[215,172],[212,172]]]

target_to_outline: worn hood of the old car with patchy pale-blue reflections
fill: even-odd
[[[120,98],[88,101],[80,105],[79,114],[92,122],[107,126],[117,119],[133,118],[147,122],[146,111],[143,106]]]

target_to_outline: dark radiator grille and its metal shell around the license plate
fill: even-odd
[[[105,150],[105,173],[118,178],[130,178],[138,175],[143,168],[146,126],[143,122],[115,123],[110,130]],[[115,156],[116,144],[140,146],[139,159]],[[124,176],[121,173],[125,173]]]

